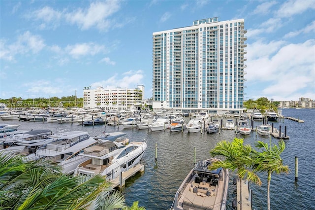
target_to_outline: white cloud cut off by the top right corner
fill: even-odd
[[[315,9],[314,0],[289,0],[285,1],[276,12],[277,17],[289,18],[301,14],[307,9]]]

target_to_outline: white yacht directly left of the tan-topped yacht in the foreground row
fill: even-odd
[[[36,155],[62,166],[64,174],[71,174],[82,161],[78,152],[95,143],[87,132],[70,131],[50,135],[53,141],[36,151]]]

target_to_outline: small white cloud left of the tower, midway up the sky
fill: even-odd
[[[81,43],[75,45],[67,45],[65,51],[73,58],[78,59],[81,56],[95,55],[99,52],[104,52],[105,47],[95,43]]]

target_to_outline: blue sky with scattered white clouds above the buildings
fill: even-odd
[[[152,34],[210,17],[245,19],[245,100],[315,100],[314,0],[0,0],[0,98],[138,84],[151,98]]]

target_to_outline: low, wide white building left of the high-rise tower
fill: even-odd
[[[104,89],[85,87],[83,90],[83,108],[102,109],[139,109],[144,101],[144,85],[137,88]]]

